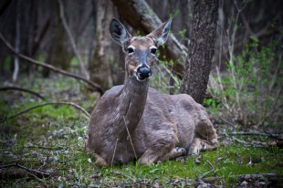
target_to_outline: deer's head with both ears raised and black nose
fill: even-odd
[[[138,81],[151,78],[152,67],[158,60],[156,57],[157,47],[166,42],[171,23],[172,18],[145,37],[131,37],[121,22],[115,18],[111,20],[110,35],[126,54],[126,78],[136,78]]]

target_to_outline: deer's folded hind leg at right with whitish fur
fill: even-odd
[[[198,154],[200,151],[213,150],[219,146],[217,134],[212,122],[207,118],[206,113],[200,116],[194,131],[194,140],[192,141],[188,154]]]

